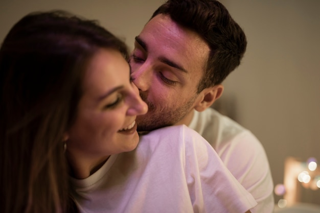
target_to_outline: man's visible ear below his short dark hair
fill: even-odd
[[[199,94],[199,102],[194,107],[195,110],[201,112],[210,107],[213,102],[221,97],[223,85],[217,84],[209,88],[203,89]]]

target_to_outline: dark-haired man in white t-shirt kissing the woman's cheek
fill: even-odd
[[[169,0],[135,38],[131,78],[148,104],[139,131],[185,124],[200,133],[258,202],[272,212],[273,183],[265,151],[248,130],[209,108],[239,64],[246,37],[214,0]]]

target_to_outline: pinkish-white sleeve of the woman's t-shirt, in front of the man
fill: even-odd
[[[257,205],[228,171],[212,146],[184,126],[185,175],[194,212],[245,212]]]

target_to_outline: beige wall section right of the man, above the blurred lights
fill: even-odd
[[[320,1],[224,0],[248,40],[224,82],[239,123],[261,140],[275,184],[287,156],[320,161]],[[320,190],[303,201],[320,204]],[[317,196],[314,196],[317,195]]]

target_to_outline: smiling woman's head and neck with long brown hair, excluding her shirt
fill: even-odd
[[[65,154],[81,178],[136,147],[134,120],[147,105],[127,57],[97,23],[61,11],[27,15],[11,29],[0,50],[2,212],[71,212]]]

